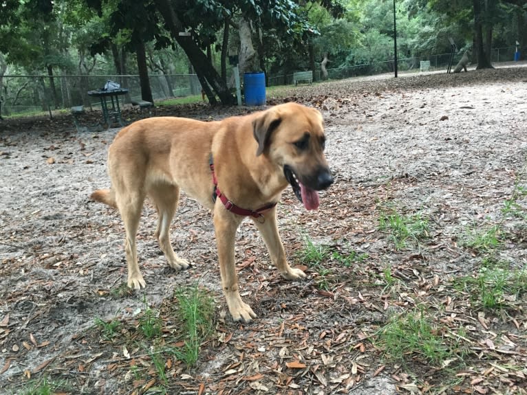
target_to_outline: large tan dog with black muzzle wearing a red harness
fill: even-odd
[[[255,318],[238,291],[236,229],[244,216],[250,216],[283,278],[304,278],[303,271],[286,262],[275,204],[290,183],[307,210],[319,207],[316,191],[333,182],[324,142],[319,111],[295,103],[222,121],[153,117],[123,128],[108,153],[112,188],[96,190],[91,197],[121,214],[128,286],[146,285],[138,267],[136,233],[147,195],[159,214],[155,236],[166,260],[174,269],[189,267],[174,253],[169,235],[181,188],[213,210],[222,289],[230,314],[235,321]]]

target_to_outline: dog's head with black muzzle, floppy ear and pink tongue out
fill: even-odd
[[[252,122],[256,155],[266,155],[281,168],[294,194],[307,210],[319,207],[319,190],[333,183],[324,156],[322,115],[296,103],[274,106]]]

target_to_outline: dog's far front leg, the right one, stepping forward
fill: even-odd
[[[262,219],[264,221],[259,218],[254,219],[254,221],[261,236],[264,238],[264,242],[266,242],[271,261],[275,264],[279,273],[286,280],[301,280],[305,278],[303,271],[290,267],[286,260],[286,251],[283,250],[282,240],[278,234],[276,207],[267,212]]]

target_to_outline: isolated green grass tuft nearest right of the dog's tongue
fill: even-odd
[[[428,219],[420,213],[402,215],[394,210],[381,212],[378,229],[389,233],[389,240],[394,242],[397,250],[407,247],[407,243],[420,242],[429,237]]]

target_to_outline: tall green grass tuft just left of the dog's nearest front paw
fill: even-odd
[[[178,289],[175,297],[179,302],[177,319],[184,328],[184,346],[173,349],[176,358],[187,367],[196,363],[202,342],[214,329],[214,301],[197,284],[188,289]]]

